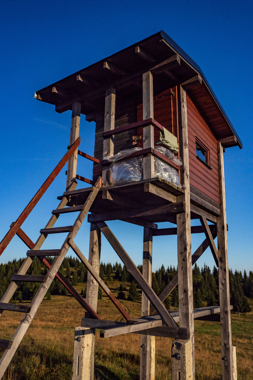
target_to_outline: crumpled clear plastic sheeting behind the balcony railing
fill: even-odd
[[[122,160],[122,158],[125,158],[126,156],[139,150],[142,150],[142,148],[136,147],[132,149],[121,150],[111,157],[104,157],[105,160],[112,162],[112,185],[126,184],[143,179],[143,156],[131,157]],[[163,154],[164,157],[169,158],[176,165],[182,165],[182,161],[179,158],[175,157],[174,154],[168,149],[164,147],[157,147],[155,150]],[[158,157],[155,157],[155,177],[163,178],[180,187],[179,175],[176,169],[172,168],[168,163],[162,161]]]

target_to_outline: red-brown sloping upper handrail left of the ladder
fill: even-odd
[[[30,212],[33,210],[35,205],[38,203],[40,198],[43,196],[43,194],[46,192],[46,190],[49,188],[49,186],[52,184],[55,177],[60,173],[65,163],[70,159],[72,154],[75,152],[77,147],[80,145],[80,137],[76,139],[76,141],[70,146],[70,149],[68,152],[63,156],[63,158],[60,160],[59,164],[55,166],[52,173],[47,177],[44,184],[39,188],[39,190],[36,192],[35,196],[32,198],[32,200],[28,203],[28,205],[25,207],[25,209],[21,212],[19,217],[17,218],[16,222],[14,222],[9,229],[9,231],[6,233],[3,240],[0,242],[0,255],[2,255],[3,251],[13,238],[21,225],[24,223],[25,219],[28,217]]]

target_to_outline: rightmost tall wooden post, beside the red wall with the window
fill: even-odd
[[[221,329],[221,356],[222,356],[222,378],[233,379],[232,363],[232,338],[231,338],[231,316],[229,302],[229,279],[228,279],[228,241],[226,228],[226,201],[223,148],[220,142],[218,148],[218,175],[220,187],[220,216],[217,216],[217,242],[218,242],[218,264],[219,264],[219,293],[220,293],[220,329]]]

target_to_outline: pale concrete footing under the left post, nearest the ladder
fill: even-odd
[[[90,380],[93,329],[76,327],[72,380]]]

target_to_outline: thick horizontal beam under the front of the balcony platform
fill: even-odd
[[[126,218],[143,218],[146,216],[166,215],[170,213],[179,214],[185,210],[185,202],[170,203],[165,206],[145,206],[139,209],[128,209],[124,211],[124,219]],[[101,214],[92,213],[88,217],[88,222],[96,223],[104,220],[122,219],[122,211],[113,210],[111,212],[102,212]]]

